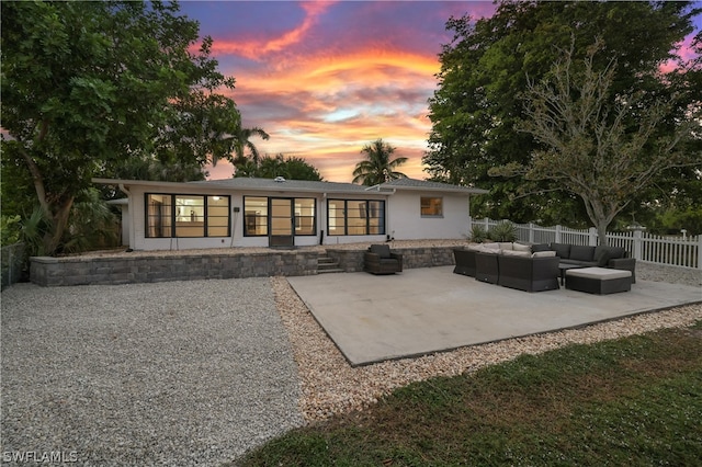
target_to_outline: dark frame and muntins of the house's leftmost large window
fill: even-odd
[[[151,201],[151,196],[162,196],[163,200],[168,200],[169,204],[163,203],[161,206],[161,209],[163,207],[167,207],[169,209],[169,212],[161,212],[159,215],[154,215],[150,212],[150,204],[149,202]],[[202,208],[202,235],[179,235],[179,223],[186,223],[188,220],[178,220],[178,207],[179,205],[177,204],[177,200],[178,198],[202,198],[202,206],[199,206]],[[219,198],[224,198],[226,200],[226,206],[224,206],[226,208],[227,215],[226,215],[226,235],[225,236],[219,236],[219,235],[211,235],[211,229],[212,228],[222,228],[224,226],[222,225],[210,225],[211,224],[211,218],[225,218],[225,216],[223,215],[215,215],[215,214],[211,214],[210,209],[210,198],[214,198],[214,197],[219,197]],[[212,206],[214,207],[214,206]],[[214,209],[213,209],[214,210]],[[199,214],[195,214],[195,216],[200,217]],[[180,217],[186,217],[186,216],[180,216]],[[154,226],[151,225],[151,220],[155,219],[159,219],[159,220],[163,220],[167,219],[168,223],[163,223],[167,224],[166,227],[163,227],[162,224],[154,224]],[[195,221],[195,220],[193,220]],[[158,193],[158,192],[147,192],[144,193],[144,237],[148,238],[148,239],[158,239],[158,238],[228,238],[231,237],[231,196],[230,195],[214,195],[214,194],[193,194],[193,193]],[[156,226],[160,226],[157,227],[158,229],[170,229],[170,235],[151,235],[151,229],[152,227]],[[188,226],[180,226],[181,228],[188,227]],[[197,226],[194,226],[197,227]]]

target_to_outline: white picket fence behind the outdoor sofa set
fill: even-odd
[[[468,231],[473,226],[483,226],[486,230],[501,220],[468,218]],[[514,224],[519,241],[529,243],[570,243],[597,246],[597,229],[571,229],[564,226],[542,227],[535,224]],[[632,258],[654,264],[667,264],[680,267],[702,270],[702,236],[661,237],[634,230],[629,232],[608,232],[608,243],[622,247]]]

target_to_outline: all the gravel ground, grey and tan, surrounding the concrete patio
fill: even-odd
[[[694,270],[636,272],[702,286]],[[1,299],[3,457],[84,465],[219,465],[411,381],[702,319],[698,304],[352,368],[284,277],[16,284]]]

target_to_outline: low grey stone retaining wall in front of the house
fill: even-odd
[[[405,269],[454,264],[452,247],[403,248]],[[363,271],[364,250],[328,249],[344,272]],[[270,277],[317,274],[317,250],[237,254],[169,254],[105,258],[31,259],[31,281],[45,287],[61,285],[115,285],[204,278]]]

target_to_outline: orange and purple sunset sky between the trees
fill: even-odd
[[[183,1],[181,12],[214,38],[219,70],[236,78],[231,98],[245,127],[270,136],[261,153],[302,157],[325,180],[350,182],[361,148],[377,139],[409,158],[423,179],[445,23],[490,15],[482,1]],[[210,168],[226,179],[231,166]]]

